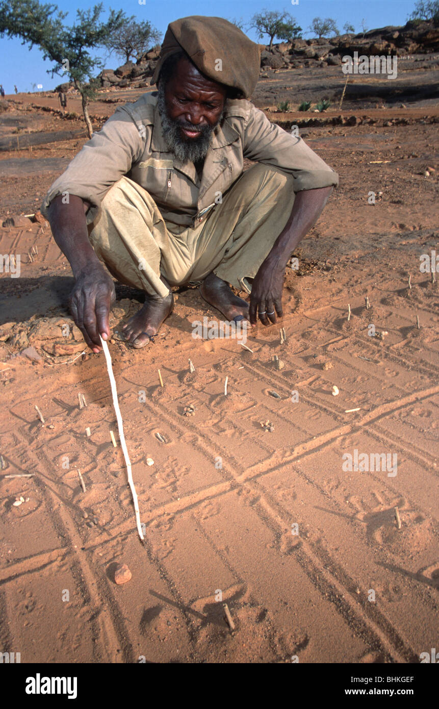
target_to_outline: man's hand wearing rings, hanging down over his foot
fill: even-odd
[[[262,262],[252,284],[250,296],[250,325],[256,325],[259,316],[262,325],[277,322],[282,318],[282,289],[284,287],[284,267]]]

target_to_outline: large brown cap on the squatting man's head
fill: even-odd
[[[182,49],[206,77],[238,89],[240,98],[250,98],[259,78],[260,48],[238,27],[221,17],[201,15],[171,22],[151,84],[157,83],[163,62]]]

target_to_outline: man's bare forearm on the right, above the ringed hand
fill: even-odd
[[[329,186],[297,192],[289,220],[274,242],[265,264],[284,269],[296,246],[318,220],[332,191],[333,187]]]

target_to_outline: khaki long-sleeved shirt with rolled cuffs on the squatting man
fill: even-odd
[[[180,162],[167,149],[154,91],[116,108],[52,184],[41,211],[47,217],[50,201],[67,192],[91,203],[91,223],[106,192],[126,175],[148,191],[171,230],[173,224],[198,225],[240,177],[244,157],[292,175],[294,192],[338,184],[333,169],[301,138],[270,123],[244,99],[227,101],[200,180],[193,162]]]

